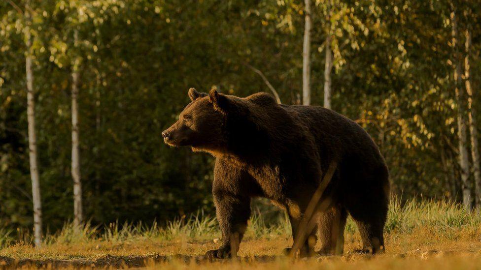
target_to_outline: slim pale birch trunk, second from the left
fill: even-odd
[[[78,31],[74,30],[74,46],[78,43]],[[83,221],[82,182],[80,180],[80,157],[78,150],[78,59],[72,67],[72,179],[73,179],[73,224],[77,228]]]

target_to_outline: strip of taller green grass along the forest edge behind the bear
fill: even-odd
[[[1,223],[0,223],[1,224]],[[468,229],[477,232],[481,227],[479,210],[465,210],[459,204],[434,200],[401,200],[392,198],[385,225],[385,232],[389,234],[410,234],[419,228],[429,228],[439,231],[440,237],[449,237],[450,232]],[[18,231],[18,230],[17,230]],[[346,235],[357,232],[355,222],[349,218],[345,228]],[[246,239],[270,239],[275,237],[289,237],[291,233],[287,216],[279,215],[276,220],[266,220],[259,210],[254,210],[245,234]],[[144,224],[142,222],[114,222],[104,226],[94,226],[87,222],[81,227],[67,223],[58,232],[47,234],[44,245],[76,244],[91,241],[124,243],[139,240],[155,241],[207,241],[219,239],[220,232],[215,217],[198,211],[190,216],[183,216],[165,224],[158,222]],[[0,248],[13,244],[32,244],[29,232],[14,233],[0,226]]]

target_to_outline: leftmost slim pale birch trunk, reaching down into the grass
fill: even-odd
[[[34,100],[34,75],[32,72],[32,36],[30,33],[30,1],[25,3],[25,40],[27,45],[27,57],[25,71],[27,75],[27,120],[29,125],[29,156],[30,177],[32,179],[32,199],[34,203],[34,243],[40,247],[42,243],[42,202],[40,199],[40,180],[37,167],[37,144],[35,134],[35,100]]]

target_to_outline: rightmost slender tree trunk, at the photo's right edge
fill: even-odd
[[[477,112],[476,106],[473,104],[473,89],[471,88],[470,81],[470,65],[469,55],[471,50],[471,34],[469,30],[465,31],[465,57],[464,57],[464,84],[466,86],[466,92],[468,93],[468,119],[469,119],[469,131],[471,134],[471,157],[473,158],[473,173],[475,180],[475,194],[476,205],[481,205],[481,170],[480,170],[480,149],[478,143],[478,128],[477,128]]]

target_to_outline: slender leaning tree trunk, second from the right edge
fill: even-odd
[[[454,9],[453,9],[454,10]],[[461,181],[463,191],[463,205],[466,209],[471,209],[471,185],[469,182],[469,157],[467,147],[467,134],[466,134],[466,97],[463,91],[462,84],[462,58],[457,49],[458,30],[456,22],[456,14],[451,12],[452,23],[452,44],[454,49],[454,82],[456,101],[458,104],[457,123],[458,123],[458,137],[459,137],[459,166],[461,170]]]

